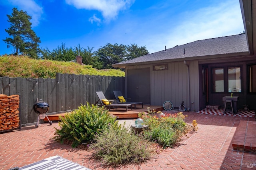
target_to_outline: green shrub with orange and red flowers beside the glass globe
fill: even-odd
[[[190,126],[184,122],[186,116],[181,112],[165,116],[156,116],[152,112],[140,113],[144,124],[148,125],[148,130],[144,131],[144,136],[150,141],[155,141],[164,148],[172,147],[182,140],[188,133]]]

